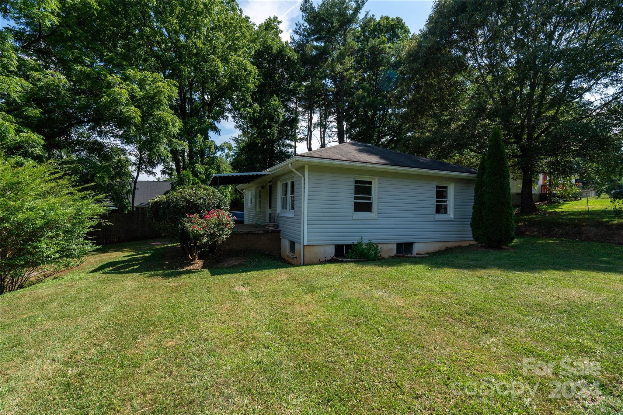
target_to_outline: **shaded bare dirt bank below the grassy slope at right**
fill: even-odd
[[[516,226],[515,235],[540,236],[541,238],[563,238],[623,245],[623,229],[617,229],[611,226],[541,228],[533,225],[520,225]]]

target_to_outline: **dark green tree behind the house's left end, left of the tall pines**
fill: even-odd
[[[261,171],[292,156],[300,63],[292,47],[281,40],[279,23],[270,17],[252,37],[251,63],[257,68],[257,85],[251,105],[234,116],[240,134],[234,138],[232,167],[238,171]]]

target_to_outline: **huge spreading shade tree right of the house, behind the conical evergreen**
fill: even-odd
[[[607,120],[623,96],[621,2],[437,2],[402,75],[404,147],[478,154],[500,126],[523,212],[536,209],[532,181],[546,161],[623,162],[619,129],[603,128],[616,126]]]

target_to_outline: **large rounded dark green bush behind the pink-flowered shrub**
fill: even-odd
[[[177,187],[168,194],[150,200],[147,215],[164,236],[180,243],[192,256],[189,240],[180,226],[186,215],[206,215],[211,210],[229,210],[229,200],[214,187]]]

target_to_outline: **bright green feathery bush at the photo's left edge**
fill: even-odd
[[[0,158],[0,166],[2,294],[79,264],[96,248],[86,235],[106,208],[52,162]]]

